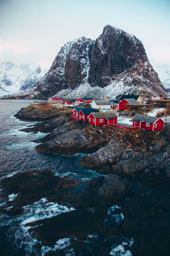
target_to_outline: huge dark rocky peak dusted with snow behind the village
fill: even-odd
[[[99,97],[102,88],[110,97],[120,93],[167,95],[141,41],[107,25],[96,41],[82,37],[66,43],[50,70],[23,97],[77,97],[82,92]]]

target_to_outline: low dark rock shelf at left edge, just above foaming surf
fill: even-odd
[[[16,215],[23,211],[23,206],[32,204],[46,197],[52,202],[68,202],[75,195],[71,190],[81,182],[68,177],[55,176],[52,169],[19,172],[0,181],[2,187],[1,202],[6,201],[0,210],[8,215]],[[16,194],[13,201],[8,195]],[[8,207],[12,207],[8,210]]]

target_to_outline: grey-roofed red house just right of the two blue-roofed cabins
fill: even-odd
[[[92,112],[89,115],[88,122],[90,125],[113,125],[117,124],[117,115],[112,112]]]

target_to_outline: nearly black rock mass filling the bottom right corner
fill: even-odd
[[[142,188],[130,196],[123,207],[122,230],[135,243],[130,250],[135,256],[169,254],[170,197],[159,191]]]

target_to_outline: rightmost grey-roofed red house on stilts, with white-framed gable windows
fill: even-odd
[[[165,126],[164,120],[160,117],[137,114],[132,120],[134,127],[138,126],[150,131],[163,130]]]

